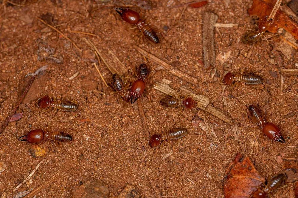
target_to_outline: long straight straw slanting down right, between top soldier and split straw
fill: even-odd
[[[176,69],[175,67],[173,67],[172,65],[167,64],[166,62],[160,60],[159,58],[157,58],[156,56],[153,56],[152,54],[146,52],[145,50],[139,48],[138,46],[134,45],[134,48],[141,53],[143,56],[145,56],[146,58],[149,58],[150,60],[152,60],[153,62],[159,64],[160,66],[163,66],[164,69],[167,69],[171,74],[178,76],[179,78],[198,86],[198,80],[195,79],[194,77],[191,77],[190,75],[184,74],[183,72],[181,72],[180,70]],[[149,56],[148,56],[149,55]]]

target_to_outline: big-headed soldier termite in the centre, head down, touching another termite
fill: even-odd
[[[153,72],[153,70],[152,70]],[[151,72],[151,74],[152,74]],[[131,85],[131,92],[129,97],[131,98],[131,104],[136,102],[136,100],[142,96],[143,92],[146,88],[146,82],[145,80],[151,76],[149,75],[149,68],[146,64],[140,64],[138,71],[137,71],[137,77],[138,80],[135,80]],[[150,94],[150,93],[149,93]]]

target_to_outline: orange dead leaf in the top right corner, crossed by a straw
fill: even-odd
[[[275,0],[253,0],[252,7],[248,10],[249,15],[256,15],[258,17],[269,16],[274,5]],[[261,16],[262,14],[262,16]],[[298,40],[298,23],[292,20],[288,15],[277,10],[274,16],[274,22],[268,29],[269,32],[276,33],[278,28],[284,28],[296,40]]]

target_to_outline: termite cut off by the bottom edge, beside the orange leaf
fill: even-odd
[[[268,184],[264,188],[258,188],[257,191],[252,194],[251,198],[266,198],[269,192],[279,188],[284,181],[285,174],[280,173],[278,175],[275,175],[268,181]]]

